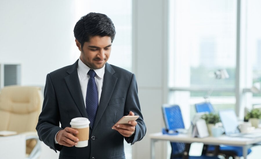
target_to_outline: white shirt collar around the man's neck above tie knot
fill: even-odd
[[[87,73],[90,71],[91,68],[88,67],[86,64],[84,64],[79,58],[77,69],[79,71],[81,79],[84,79],[84,77],[87,75]],[[95,71],[96,75],[99,78],[103,79],[104,72],[105,72],[105,65],[101,69],[93,69],[93,70]]]

